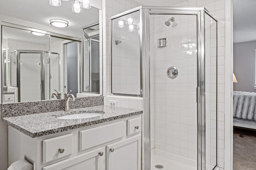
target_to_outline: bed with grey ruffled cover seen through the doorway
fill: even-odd
[[[234,126],[256,129],[256,93],[233,92]]]

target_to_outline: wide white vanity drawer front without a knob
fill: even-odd
[[[125,121],[79,131],[80,151],[125,137],[125,131]]]

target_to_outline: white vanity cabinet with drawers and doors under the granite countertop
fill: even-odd
[[[141,115],[37,138],[9,126],[8,136],[9,164],[26,155],[35,170],[141,170]]]

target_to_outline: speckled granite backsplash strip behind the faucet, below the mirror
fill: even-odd
[[[103,96],[93,96],[76,98],[75,101],[69,101],[70,109],[92,107],[104,105]],[[2,117],[13,117],[21,115],[31,115],[52,111],[64,110],[64,99],[61,100],[43,100],[38,102],[21,102],[12,104],[2,104]]]

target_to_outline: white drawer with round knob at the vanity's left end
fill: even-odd
[[[72,136],[72,134],[68,134],[43,140],[43,163],[72,154]]]

